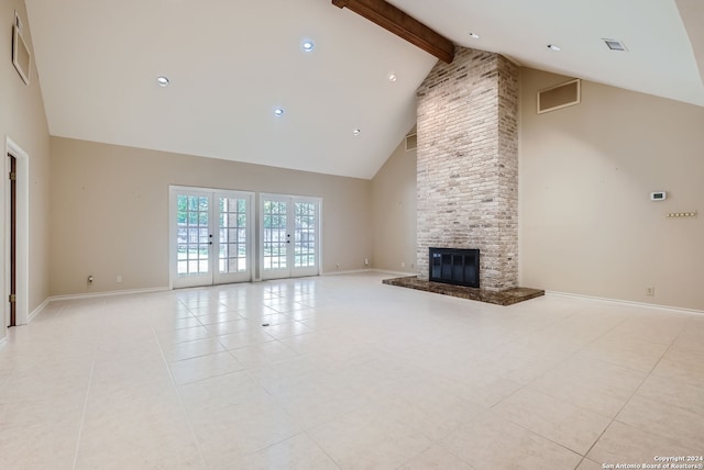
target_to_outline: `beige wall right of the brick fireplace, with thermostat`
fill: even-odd
[[[565,79],[522,70],[521,286],[704,310],[704,108],[582,81],[581,104],[536,114]]]

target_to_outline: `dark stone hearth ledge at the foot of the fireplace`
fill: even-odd
[[[419,291],[433,292],[443,295],[459,296],[461,299],[476,300],[479,302],[493,303],[495,305],[513,305],[525,300],[535,299],[546,294],[546,291],[528,288],[513,288],[501,292],[493,292],[483,289],[465,288],[464,286],[443,284],[441,282],[430,282],[418,279],[417,276],[403,278],[384,279],[385,284],[398,286],[402,288],[416,289]]]

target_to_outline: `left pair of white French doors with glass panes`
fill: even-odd
[[[172,284],[252,280],[252,193],[169,188]]]

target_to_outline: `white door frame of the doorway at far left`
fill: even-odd
[[[2,236],[4,237],[2,250],[2,265],[4,266],[4,282],[2,282],[2,304],[4,305],[4,326],[10,324],[10,309],[8,299],[10,295],[10,184],[8,175],[10,174],[10,159],[8,154],[16,159],[16,303],[15,322],[18,325],[26,325],[29,320],[30,301],[30,155],[22,149],[10,137],[6,137],[4,152],[4,176],[2,184],[4,190],[4,201],[2,210],[4,212],[4,226]]]

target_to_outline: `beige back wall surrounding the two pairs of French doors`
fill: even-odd
[[[371,257],[369,180],[51,142],[53,295],[167,287],[169,184],[320,197],[323,272],[363,269]]]

